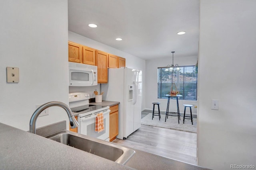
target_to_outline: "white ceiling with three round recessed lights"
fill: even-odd
[[[68,30],[145,60],[198,56],[199,0],[68,0]]]

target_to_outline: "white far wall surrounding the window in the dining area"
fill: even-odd
[[[180,66],[195,65],[197,57],[175,57],[174,54],[174,64],[179,64]],[[153,109],[152,102],[159,102],[160,111],[166,111],[167,99],[157,98],[157,68],[166,67],[172,64],[172,54],[168,58],[162,59],[152,59],[146,61],[146,108]],[[184,112],[183,104],[197,105],[197,101],[179,100],[180,112]],[[177,111],[176,99],[170,99],[169,111]],[[192,107],[192,113],[196,114],[197,109]]]

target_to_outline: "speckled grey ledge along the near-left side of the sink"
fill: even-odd
[[[0,123],[1,170],[130,170],[128,166]]]

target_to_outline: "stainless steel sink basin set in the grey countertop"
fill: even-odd
[[[123,165],[135,153],[132,149],[71,131],[61,131],[46,138]]]

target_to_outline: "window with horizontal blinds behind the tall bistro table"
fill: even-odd
[[[176,84],[180,92],[181,100],[196,100],[197,96],[197,74],[194,66],[179,66],[180,71],[165,71],[166,67],[158,67],[158,98],[170,92],[172,82]]]

